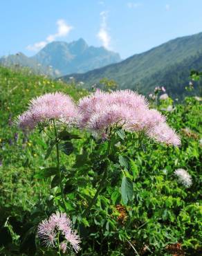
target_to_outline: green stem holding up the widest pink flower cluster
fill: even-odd
[[[108,156],[108,154],[110,153],[110,147],[111,147],[111,140],[109,139],[106,156]],[[107,166],[105,167],[104,174],[102,176],[102,180],[100,181],[100,185],[98,186],[98,189],[95,192],[95,195],[93,196],[93,199],[89,203],[88,208],[86,208],[86,210],[84,210],[84,213],[83,213],[82,217],[86,217],[86,215],[89,214],[89,211],[91,210],[91,207],[96,203],[96,201],[98,199],[98,196],[100,194],[100,191],[102,190],[103,185],[104,185],[104,183],[107,179],[107,171],[108,171],[108,163],[107,163]]]

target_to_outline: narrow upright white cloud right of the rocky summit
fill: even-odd
[[[111,37],[109,35],[108,29],[107,29],[107,12],[100,12],[101,16],[101,24],[100,24],[100,30],[98,32],[98,38],[102,42],[102,45],[104,48],[109,49],[110,42],[111,42]]]

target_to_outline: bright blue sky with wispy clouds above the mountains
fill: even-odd
[[[201,0],[1,0],[0,56],[84,38],[124,59],[202,32]]]

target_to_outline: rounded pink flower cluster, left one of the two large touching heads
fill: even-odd
[[[38,122],[46,120],[64,120],[72,124],[77,116],[73,100],[63,93],[46,93],[30,102],[27,111],[18,116],[17,123],[21,129],[32,130]]]

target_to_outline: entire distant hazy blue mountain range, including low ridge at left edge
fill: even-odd
[[[52,42],[33,57],[17,53],[0,58],[3,66],[26,66],[34,73],[53,76],[84,73],[116,62],[120,62],[118,53],[104,47],[88,46],[84,39],[71,43]]]

